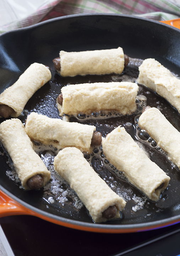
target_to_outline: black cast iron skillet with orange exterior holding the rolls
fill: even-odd
[[[24,123],[27,115],[32,111],[51,118],[59,118],[55,99],[60,93],[61,86],[68,83],[108,82],[112,80],[113,76],[61,78],[54,70],[52,59],[58,57],[60,50],[82,51],[110,49],[119,46],[131,58],[155,58],[175,74],[179,75],[180,73],[180,31],[178,29],[156,21],[127,15],[70,15],[0,36],[0,92],[12,85],[31,63],[39,62],[48,65],[52,79],[28,101],[25,111],[19,118]],[[138,68],[127,66],[124,75],[137,78]],[[121,80],[121,76],[116,76],[117,78]],[[167,101],[142,86],[140,86],[139,94],[147,97],[147,105],[160,107],[169,121],[180,130],[180,116]],[[14,201],[13,204],[13,201],[7,199],[6,196],[5,199],[1,198],[1,216],[32,214],[71,228],[108,233],[150,230],[180,222],[180,172],[160,153],[159,148],[152,147],[144,139],[138,137],[136,118],[137,116],[132,115],[110,118],[106,121],[84,121],[83,123],[94,124],[104,137],[121,124],[135,140],[140,141],[149,152],[151,159],[171,177],[168,190],[162,193],[158,202],[151,202],[141,191],[125,180],[121,180],[113,169],[109,169],[108,163],[103,162],[103,159],[100,158],[102,152],[99,149],[99,153],[94,153],[92,157],[94,169],[112,189],[122,190],[122,193],[126,193],[129,198],[126,198],[128,200],[121,219],[95,224],[85,207],[77,210],[73,206],[71,197],[63,205],[58,201],[49,203],[48,198],[51,195],[47,189],[24,191],[20,184],[12,181],[12,178],[7,175],[11,172],[11,160],[1,146],[0,189]],[[1,118],[1,121],[4,119]],[[72,119],[71,121],[77,120]],[[78,122],[80,121],[82,120]],[[40,154],[43,160],[46,154],[47,151]],[[52,158],[46,164],[52,165]],[[113,187],[114,181],[116,181],[115,187]],[[143,198],[143,202],[140,198]],[[2,209],[2,202],[5,204],[5,201],[9,206],[6,211]]]

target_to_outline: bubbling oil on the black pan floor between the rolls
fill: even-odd
[[[87,75],[63,78],[51,67],[52,79],[37,91],[28,101],[22,115],[19,117],[22,123],[25,123],[27,115],[31,112],[46,114],[52,118],[60,118],[56,107],[56,97],[60,93],[60,88],[67,84],[80,84],[86,82],[110,82],[110,81],[131,81],[134,82],[138,77],[138,65],[141,60],[131,59],[128,66],[125,67],[121,75]],[[137,141],[138,145],[148,154],[152,161],[156,162],[162,168],[171,180],[167,190],[165,190],[158,202],[150,201],[141,191],[131,185],[124,175],[105,159],[102,146],[93,149],[93,153],[84,153],[84,158],[89,161],[98,175],[107,182],[113,191],[122,196],[127,202],[122,211],[121,218],[111,220],[109,224],[135,224],[146,223],[153,220],[160,220],[162,216],[171,217],[179,208],[180,195],[180,172],[173,165],[166,154],[157,146],[146,132],[138,127],[138,117],[146,105],[157,107],[167,117],[167,119],[180,130],[178,111],[176,111],[164,98],[156,93],[139,85],[138,97],[136,100],[137,111],[130,116],[119,116],[117,113],[107,112],[106,115],[99,116],[99,113],[92,113],[91,116],[78,115],[70,117],[70,122],[80,122],[96,126],[96,130],[101,132],[103,137],[114,128],[121,125]],[[97,119],[97,116],[99,119]],[[18,187],[18,193],[25,195],[27,202],[33,206],[43,209],[46,212],[59,215],[72,220],[80,220],[92,223],[86,208],[83,206],[76,193],[71,190],[69,185],[63,180],[53,168],[53,160],[58,153],[56,148],[45,146],[34,142],[34,149],[44,161],[45,165],[51,171],[51,180],[39,191],[24,191],[21,183],[13,169],[11,159],[8,154],[4,154],[1,146],[1,157],[9,161],[9,167],[6,175],[12,186]],[[71,156],[70,156],[71,159]],[[17,188],[16,188],[17,190]],[[37,203],[38,202],[38,203]],[[40,202],[40,203],[39,203]]]

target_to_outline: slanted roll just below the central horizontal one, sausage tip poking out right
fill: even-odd
[[[75,146],[82,151],[89,152],[91,151],[96,127],[75,122],[65,122],[58,118],[49,118],[32,112],[26,119],[25,130],[32,140],[37,140],[43,144],[53,145],[58,149]],[[100,140],[96,145],[101,144],[101,133],[99,136]]]

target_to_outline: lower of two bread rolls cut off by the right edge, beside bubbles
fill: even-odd
[[[165,116],[157,108],[148,108],[141,114],[138,125],[156,140],[168,159],[180,168],[180,132]]]

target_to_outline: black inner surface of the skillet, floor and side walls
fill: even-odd
[[[39,89],[27,102],[24,111],[19,117],[23,124],[25,123],[27,115],[31,112],[45,114],[51,118],[60,118],[56,107],[56,97],[59,95],[62,86],[86,82],[134,82],[138,77],[138,65],[140,65],[141,59],[156,58],[177,76],[179,75],[177,64],[170,63],[169,58],[166,59],[164,54],[159,54],[158,47],[160,47],[160,42],[157,38],[158,53],[153,50],[154,44],[152,46],[149,46],[149,43],[144,45],[144,43],[146,43],[144,41],[147,40],[146,38],[140,38],[141,43],[138,47],[136,41],[135,43],[129,41],[130,36],[129,34],[127,35],[127,31],[129,31],[129,33],[132,32],[132,34],[135,33],[135,31],[131,31],[130,28],[132,24],[131,26],[129,25],[130,18],[127,17],[128,16],[90,15],[87,17],[72,17],[72,20],[55,19],[53,22],[45,22],[41,26],[35,26],[35,28],[32,27],[27,30],[7,33],[4,37],[1,36],[1,53],[4,53],[3,56],[1,54],[0,59],[1,92],[5,87],[12,85],[13,82],[18,79],[18,76],[33,62],[48,65],[52,74],[51,80]],[[84,24],[84,20],[87,21],[87,25]],[[124,27],[122,30],[124,37],[119,36],[122,21],[124,21],[124,27],[126,27],[126,30]],[[137,27],[139,19],[135,19],[135,21],[135,27]],[[141,19],[141,22],[142,21],[147,22]],[[149,23],[151,27],[151,22]],[[104,24],[106,24],[106,26],[104,26]],[[114,28],[115,24],[118,24],[118,27]],[[157,29],[161,28],[161,25],[157,23],[154,24],[158,27]],[[62,28],[58,30],[60,25]],[[66,25],[66,33],[63,25]],[[140,27],[143,29],[142,26]],[[140,27],[138,29],[136,28],[136,33],[140,34]],[[80,28],[82,34],[79,32]],[[167,27],[163,28],[169,29]],[[152,31],[151,28],[146,29],[156,34],[156,29],[154,30],[155,32]],[[52,30],[54,30],[54,34]],[[113,35],[111,38],[107,36],[110,30]],[[169,31],[171,30],[169,29]],[[146,31],[144,31],[144,33],[146,33]],[[178,32],[175,30],[175,33]],[[96,37],[94,37],[95,35]],[[22,38],[21,43],[17,39],[17,36],[18,38]],[[70,36],[72,36],[72,44],[69,42]],[[151,35],[149,37],[151,37]],[[13,46],[15,54],[12,54],[9,38],[15,42]],[[105,41],[104,38],[106,38]],[[144,41],[142,42],[142,40]],[[152,40],[156,41],[153,38]],[[7,45],[4,44],[5,42]],[[125,67],[122,75],[87,75],[62,78],[54,69],[52,59],[58,57],[60,50],[93,50],[117,48],[118,46],[124,49],[125,54],[132,57],[130,64]],[[18,58],[21,47],[23,54]],[[164,49],[162,49],[162,51],[165,51],[166,43],[163,47]],[[140,48],[142,51],[140,51]],[[148,52],[146,50],[148,50]],[[168,54],[169,52],[167,52],[167,55]],[[100,131],[103,137],[119,125],[125,127],[126,131],[131,134],[133,139],[147,153],[149,158],[156,162],[171,178],[167,190],[161,194],[159,201],[152,202],[141,191],[131,185],[122,173],[116,170],[115,167],[104,158],[101,146],[94,148],[91,155],[84,154],[84,157],[93,166],[98,175],[107,182],[113,191],[122,196],[127,202],[125,209],[121,213],[121,218],[107,222],[106,224],[109,225],[153,223],[154,221],[165,220],[180,214],[180,171],[167,159],[166,154],[156,145],[156,142],[149,138],[147,134],[143,134],[137,125],[138,117],[143,107],[146,105],[157,107],[179,131],[180,115],[164,98],[142,85],[139,85],[136,102],[138,111],[130,116],[111,117],[112,113],[109,113],[107,119],[103,117],[96,119],[94,116],[96,116],[97,113],[93,113],[92,118],[70,118],[70,122],[80,122],[96,126],[96,130]],[[4,121],[4,119],[1,118],[1,121]],[[35,143],[34,149],[51,171],[50,182],[38,191],[24,191],[15,174],[11,159],[7,152],[4,151],[3,146],[1,146],[0,162],[2,169],[0,173],[0,185],[22,201],[47,213],[85,223],[93,223],[88,211],[83,206],[76,193],[71,190],[69,185],[56,174],[53,169],[53,159],[57,154],[57,150],[51,146],[45,146],[40,143]]]

